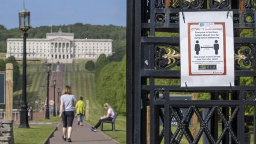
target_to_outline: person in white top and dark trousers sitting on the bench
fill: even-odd
[[[108,103],[104,103],[103,108],[107,110],[107,116],[102,116],[99,119],[99,122],[94,126],[91,127],[90,130],[96,132],[98,127],[100,126],[101,122],[103,121],[112,121],[112,119],[115,117],[115,111],[113,108],[111,108]]]

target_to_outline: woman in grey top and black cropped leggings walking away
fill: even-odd
[[[60,117],[62,118],[63,128],[62,128],[62,139],[71,142],[72,124],[74,120],[74,105],[75,105],[75,95],[72,94],[72,89],[70,86],[66,86],[62,91],[60,97]],[[68,127],[68,130],[67,130]],[[67,132],[68,131],[68,132]]]

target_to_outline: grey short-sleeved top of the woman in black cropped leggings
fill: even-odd
[[[62,111],[74,111],[75,95],[74,94],[62,94],[60,100],[63,101]]]

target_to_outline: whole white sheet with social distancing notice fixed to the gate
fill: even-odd
[[[232,15],[227,11],[180,12],[182,87],[234,85]]]

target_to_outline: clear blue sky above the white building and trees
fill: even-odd
[[[0,25],[19,27],[18,12],[23,0],[0,0]],[[25,0],[30,25],[58,26],[77,22],[91,25],[126,26],[125,0]]]

